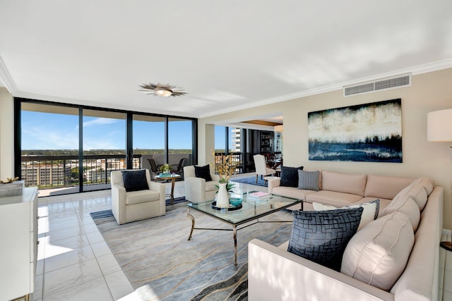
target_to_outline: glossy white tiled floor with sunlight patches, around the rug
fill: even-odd
[[[243,190],[250,186],[237,185]],[[111,209],[110,193],[40,197],[33,300],[140,300],[90,216]],[[184,182],[176,183],[174,196],[184,196]],[[441,249],[439,264],[439,300],[452,301],[452,252]]]

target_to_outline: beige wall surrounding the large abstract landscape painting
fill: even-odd
[[[286,166],[305,166],[307,169],[327,169],[348,173],[373,173],[388,176],[427,176],[444,188],[444,228],[452,228],[451,174],[449,147],[452,143],[427,142],[427,113],[452,108],[452,68],[424,73],[412,77],[412,85],[394,90],[343,97],[342,90],[293,99],[254,109],[220,114],[198,121],[206,128],[218,121],[256,116],[273,111],[283,111],[283,156]],[[307,113],[355,104],[366,104],[388,99],[402,99],[403,163],[309,161]],[[199,149],[206,151],[202,131]],[[208,163],[208,156],[200,164]],[[206,152],[208,154],[208,152]]]

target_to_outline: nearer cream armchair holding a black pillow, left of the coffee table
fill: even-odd
[[[165,215],[165,184],[151,182],[149,170],[145,173],[149,190],[126,192],[121,171],[112,171],[112,211],[118,225]]]

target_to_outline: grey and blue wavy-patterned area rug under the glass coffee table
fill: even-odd
[[[187,240],[186,203],[167,207],[165,216],[121,226],[107,211],[95,212],[93,220],[142,300],[247,300],[249,240],[280,245],[292,228],[292,223],[258,223],[237,231],[236,271],[232,231],[195,229]],[[231,228],[194,210],[191,215],[196,227]],[[260,219],[291,220],[290,211]]]

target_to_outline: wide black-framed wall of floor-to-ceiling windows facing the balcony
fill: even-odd
[[[16,98],[16,174],[40,196],[110,188],[110,172],[196,164],[196,119]]]

